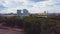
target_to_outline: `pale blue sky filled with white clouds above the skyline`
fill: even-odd
[[[0,0],[0,13],[16,13],[27,9],[30,13],[60,13],[60,0]]]

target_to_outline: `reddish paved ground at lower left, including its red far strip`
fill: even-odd
[[[25,34],[24,29],[2,27],[0,34]]]

